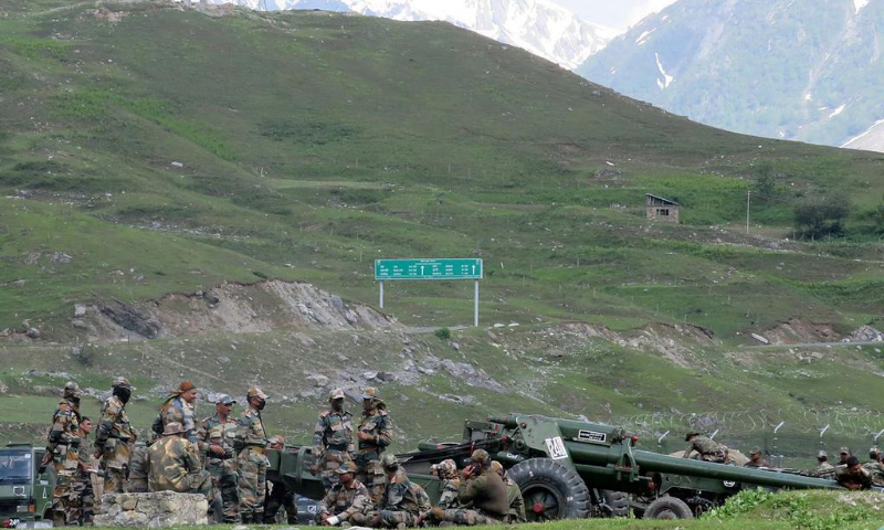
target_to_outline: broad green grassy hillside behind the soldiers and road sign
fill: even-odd
[[[767,422],[884,398],[873,347],[821,349],[811,368],[788,348],[739,348],[792,318],[830,338],[880,325],[880,242],[786,241],[778,201],[754,206],[751,235],[740,223],[762,162],[787,176],[785,195],[836,190],[867,209],[884,193],[882,156],[699,126],[448,24],[322,12],[7,2],[0,98],[0,330],[17,331],[0,346],[0,403],[31,434],[59,371],[96,389],[129,373],[149,400],[185,377],[231,393],[260,382],[287,398],[269,411],[274,428],[304,441],[323,402],[308,371],[357,388],[362,371],[429,363],[385,384],[402,447],[508,410],[650,434],[669,428],[640,417],[655,411],[765,410]],[[677,199],[684,223],[646,221],[648,192]],[[86,343],[71,320],[75,304],[264,278],[375,304],[375,258],[454,256],[485,259],[483,324],[519,327],[452,341],[378,331],[367,344],[316,329]],[[471,299],[469,283],[388,283],[385,309],[452,326],[470,321]],[[30,327],[40,340],[23,338]],[[39,413],[22,412],[29,395]],[[791,434],[804,454],[813,422]],[[870,443],[859,427],[838,433]],[[762,436],[739,424],[726,438]]]

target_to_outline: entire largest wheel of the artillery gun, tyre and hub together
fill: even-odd
[[[507,474],[522,490],[528,522],[589,517],[589,488],[575,469],[551,458],[530,458]]]

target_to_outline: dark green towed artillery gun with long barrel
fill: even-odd
[[[639,437],[600,423],[509,414],[466,421],[463,439],[423,443],[398,455],[431,500],[439,483],[430,466],[445,458],[463,466],[476,448],[501,462],[522,489],[529,521],[625,516],[690,519],[743,489],[841,489],[833,480],[768,469],[678,458],[638,449]],[[305,470],[308,447],[271,455],[271,473],[299,495],[318,499],[323,486]]]

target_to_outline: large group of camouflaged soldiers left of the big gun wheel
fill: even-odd
[[[57,526],[86,524],[99,509],[102,492],[177,491],[204,495],[215,519],[233,523],[274,522],[281,508],[296,521],[295,496],[283,483],[267,483],[269,448],[285,448],[269,437],[261,411],[267,395],[253,386],[244,411],[234,418],[230,395],[215,396],[215,414],[196,420],[198,390],[183,381],[162,402],[149,439],[139,441],[126,414],[133,386],[116,378],[102,405],[90,452],[93,422],[80,413],[80,386],[69,382],[52,418],[45,465],[53,464]],[[477,449],[460,473],[453,460],[434,465],[441,496],[432,506],[423,488],[409,480],[396,456],[392,421],[376,389],[362,395],[360,423],[344,409],[335,389],[319,414],[313,439],[315,464],[326,489],[316,522],[323,526],[407,528],[440,523],[488,524],[525,520],[518,486],[499,463]],[[355,434],[355,439],[354,439]],[[99,478],[99,477],[103,477]],[[220,494],[220,504],[215,494]],[[220,505],[220,506],[219,506]]]

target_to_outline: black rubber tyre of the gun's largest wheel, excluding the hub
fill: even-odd
[[[519,462],[507,471],[507,476],[524,492],[534,485],[541,485],[565,501],[559,507],[559,519],[586,519],[591,505],[589,488],[580,475],[570,467],[562,466],[551,458],[530,458]],[[530,509],[526,499],[525,510]]]

